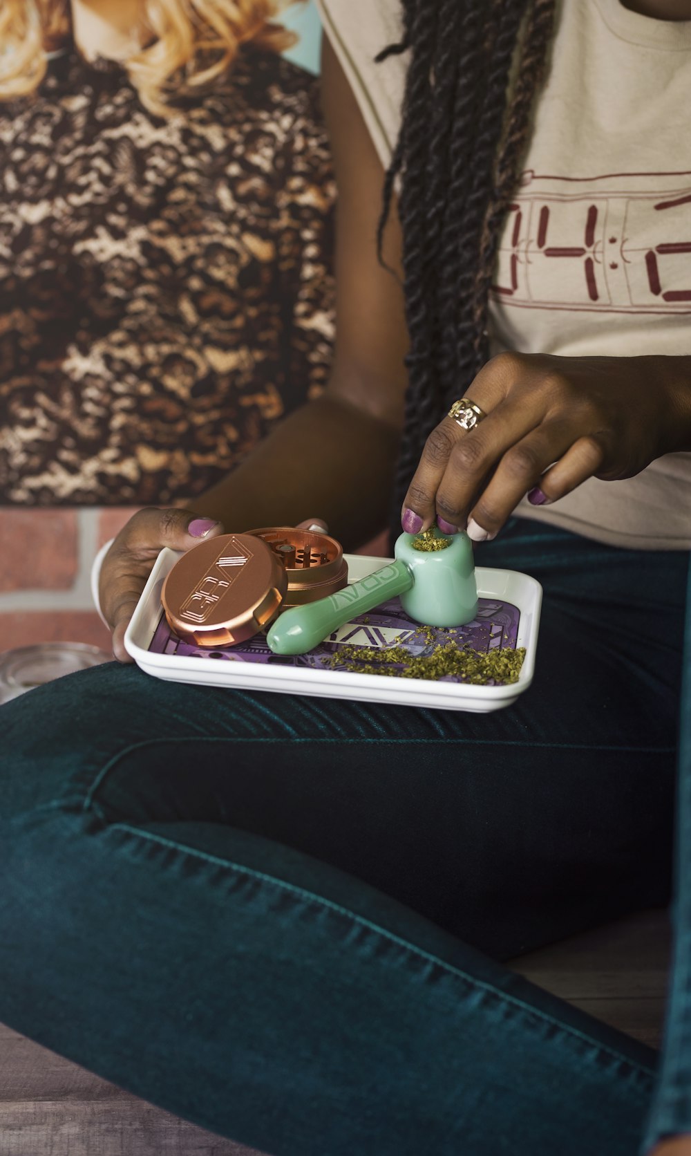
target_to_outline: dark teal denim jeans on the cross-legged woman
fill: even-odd
[[[498,961],[668,899],[688,557],[478,562],[544,586],[506,711],[114,664],[1,707],[0,1020],[274,1156],[634,1156],[655,1054]]]

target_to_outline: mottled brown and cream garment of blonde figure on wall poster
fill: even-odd
[[[165,505],[320,393],[317,82],[248,47],[172,119],[75,52],[0,105],[0,502]]]

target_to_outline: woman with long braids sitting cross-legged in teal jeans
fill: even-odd
[[[688,1154],[691,681],[657,1098],[654,1053],[496,961],[669,894],[691,0],[321,7],[328,387],[118,535],[122,664],[3,707],[0,1018],[273,1156]],[[162,546],[313,512],[351,546],[392,510],[542,583],[511,710],[124,665]]]

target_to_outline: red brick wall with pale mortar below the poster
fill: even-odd
[[[91,603],[91,563],[135,509],[0,507],[0,651],[72,642],[110,653]],[[385,555],[385,538],[358,553]]]

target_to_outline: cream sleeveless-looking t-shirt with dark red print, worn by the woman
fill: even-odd
[[[400,0],[318,0],[382,164],[407,55]],[[691,356],[691,22],[559,0],[547,82],[490,298],[492,353]],[[602,542],[691,549],[691,453],[517,512]]]

